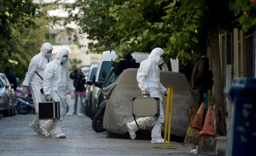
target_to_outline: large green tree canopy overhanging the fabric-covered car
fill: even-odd
[[[235,2],[224,0],[217,11],[211,0],[77,1],[70,8],[82,11],[80,15],[70,11],[69,20],[78,23],[80,33],[98,41],[89,44],[90,52],[114,49],[123,56],[126,50],[150,53],[161,47],[166,61],[178,56],[182,63],[195,63],[209,43],[210,9],[216,10],[220,33],[233,30],[239,25],[233,22]],[[183,47],[192,47],[196,54],[184,53]]]

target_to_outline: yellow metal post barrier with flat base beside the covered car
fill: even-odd
[[[171,118],[172,118],[173,90],[174,90],[173,86],[168,86],[167,102],[166,102],[166,113],[165,113],[165,125],[164,125],[164,143],[163,143],[163,145],[153,146],[154,148],[177,149],[176,147],[180,147],[180,146],[170,145],[170,121],[171,121]],[[167,124],[167,122],[168,122],[168,124]],[[168,127],[168,139],[167,139],[167,145],[166,145],[167,127]]]

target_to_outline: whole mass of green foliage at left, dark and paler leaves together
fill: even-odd
[[[42,16],[47,10],[36,11],[40,6],[31,1],[0,2],[0,72],[10,66],[22,83],[30,59],[47,42],[45,36],[52,19]]]

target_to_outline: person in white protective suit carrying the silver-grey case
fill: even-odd
[[[162,95],[167,95],[167,89],[160,83],[160,69],[158,65],[163,63],[164,51],[161,48],[155,48],[152,50],[148,59],[140,63],[140,68],[137,72],[137,81],[139,88],[145,96],[160,98],[160,115],[157,118],[155,125],[152,129],[151,143],[164,143],[164,139],[161,137],[161,124],[164,122],[164,113],[162,107]],[[152,127],[155,121],[154,117],[139,118],[136,120],[138,125],[142,128],[145,126]],[[130,137],[135,139],[135,132],[138,131],[138,126],[135,121],[127,123]]]

